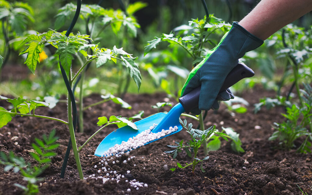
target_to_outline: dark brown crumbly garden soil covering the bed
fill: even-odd
[[[259,102],[261,97],[275,97],[274,91],[263,90],[259,87],[245,91],[239,95],[249,103],[248,111],[245,114],[235,114],[232,116],[224,105],[217,111],[209,111],[205,119],[207,127],[215,124],[217,129],[221,127],[232,127],[240,134],[243,154],[236,154],[231,150],[231,143],[222,141],[219,151],[210,151],[209,159],[203,164],[203,173],[198,166],[193,174],[191,168],[177,168],[177,162],[181,164],[189,163],[191,158],[185,151],[178,154],[176,159],[167,155],[164,151],[169,150],[166,146],[173,144],[173,141],[181,139],[188,140],[190,136],[182,130],[172,136],[160,139],[144,147],[133,150],[129,156],[136,158],[122,163],[113,164],[109,162],[106,168],[116,170],[118,174],[125,175],[119,183],[109,180],[102,183],[101,179],[88,178],[95,174],[95,177],[104,176],[98,173],[98,168],[94,168],[100,161],[100,157],[94,156],[94,151],[98,144],[107,134],[117,127],[111,125],[100,131],[80,152],[80,161],[84,177],[79,180],[76,170],[76,163],[73,154],[70,155],[65,178],[60,178],[61,166],[65,155],[69,131],[66,125],[48,119],[34,117],[14,117],[12,121],[0,129],[0,150],[8,153],[13,151],[22,156],[26,161],[34,165],[34,161],[29,157],[34,138],[41,138],[42,134],[48,134],[51,129],[56,129],[60,146],[56,149],[57,156],[52,158],[52,163],[46,171],[41,174],[43,181],[38,183],[39,194],[213,194],[213,195],[269,195],[269,194],[302,194],[297,185],[304,192],[311,195],[312,191],[312,163],[311,154],[298,154],[295,150],[285,151],[279,148],[277,141],[269,141],[268,138],[274,131],[273,122],[282,122],[284,119],[280,115],[283,108],[266,110],[262,108],[257,114],[253,113],[253,104]],[[93,94],[85,98],[85,105],[99,101],[100,95]],[[157,112],[151,108],[157,102],[168,100],[165,94],[141,94],[126,95],[124,100],[132,105],[132,109],[123,109],[120,105],[112,102],[92,107],[84,112],[85,132],[77,133],[78,145],[93,134],[99,127],[96,125],[100,116],[122,115],[131,117],[139,111],[144,110],[144,117]],[[173,101],[170,99],[170,101]],[[173,104],[176,102],[173,101]],[[0,106],[6,107],[6,101],[0,101]],[[168,111],[170,107],[164,107],[161,111]],[[38,108],[36,114],[48,115],[51,117],[66,119],[66,103],[58,103],[53,109]],[[182,117],[183,118],[183,117]],[[196,127],[198,123],[188,119]],[[198,158],[204,158],[201,152]],[[134,166],[134,164],[136,166]],[[26,185],[22,176],[13,171],[4,172],[3,165],[0,165],[0,195],[1,194],[22,194],[22,190],[14,186],[14,183]],[[177,168],[175,171],[170,168]],[[127,174],[130,170],[130,174]],[[141,187],[136,190],[130,187],[126,179],[135,178],[139,182],[147,183],[148,187]],[[128,193],[127,189],[131,192]]]

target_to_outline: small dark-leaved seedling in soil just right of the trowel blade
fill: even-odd
[[[186,119],[184,119],[184,121],[182,121],[182,119],[180,119],[180,123],[186,129],[186,132],[188,132],[191,135],[192,139],[188,141],[187,145],[183,144],[183,140],[181,140],[180,142],[176,142],[177,145],[168,145],[168,147],[173,148],[173,150],[165,151],[165,153],[171,154],[171,155],[173,155],[173,158],[176,158],[178,155],[178,152],[182,152],[182,149],[184,149],[186,154],[188,154],[188,156],[190,158],[192,158],[192,156],[193,156],[193,160],[191,161],[191,163],[187,163],[186,166],[184,166],[184,167],[180,163],[177,163],[178,167],[179,168],[187,168],[188,166],[193,165],[192,173],[194,174],[196,165],[198,163],[201,163],[200,169],[202,170],[202,172],[205,172],[204,168],[202,167],[202,164],[203,164],[204,160],[208,160],[209,156],[206,156],[203,159],[197,158],[199,148],[204,143],[204,140],[206,140],[213,133],[221,136],[223,139],[228,141],[226,134],[221,133],[221,132],[217,132],[216,126],[211,126],[210,128],[202,131],[199,129],[193,129],[192,128],[193,124],[192,123],[187,124]],[[192,155],[191,151],[193,151],[193,153],[194,153],[193,155]],[[171,169],[171,170],[173,171],[175,169]]]

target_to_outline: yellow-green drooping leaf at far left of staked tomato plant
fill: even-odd
[[[40,62],[39,54],[42,52],[41,43],[30,42],[27,43],[26,46],[28,47],[24,51],[22,51],[19,55],[28,53],[24,64],[26,64],[29,70],[31,70],[32,73],[35,74],[37,62]]]

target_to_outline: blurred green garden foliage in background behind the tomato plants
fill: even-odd
[[[7,1],[11,6],[21,6],[17,1]],[[122,3],[120,3],[122,2]],[[134,13],[125,11],[129,5],[134,3],[144,5]],[[4,17],[1,20],[0,29],[0,55],[7,56],[5,68],[26,67],[23,65],[24,56],[18,54],[25,48],[19,45],[23,38],[28,34],[35,32],[47,32],[49,29],[57,29],[59,32],[66,31],[74,11],[66,14],[64,25],[56,24],[56,15],[59,10],[68,3],[76,5],[75,1],[69,0],[24,0],[24,8],[28,10],[28,16],[19,18],[23,22],[22,31],[6,21]],[[89,5],[98,4],[98,1],[83,1]],[[241,18],[256,6],[256,0],[206,0],[208,11],[214,17],[221,18],[226,23],[232,24],[233,21],[240,21]],[[25,5],[29,5],[29,9]],[[137,4],[139,5],[139,4]],[[144,56],[144,47],[148,45],[148,41],[154,37],[161,37],[163,33],[170,34],[177,27],[185,27],[192,19],[203,19],[206,15],[200,0],[156,0],[156,1],[135,1],[135,0],[118,0],[118,1],[100,1],[100,6],[105,10],[115,10],[126,17],[134,18],[137,34],[129,32],[129,26],[121,26],[118,31],[113,26],[105,28],[99,33],[98,37],[92,37],[94,43],[102,47],[117,48],[123,47],[133,56],[138,56],[137,63],[143,77],[142,85],[139,93],[154,93],[156,91],[176,92],[180,90],[188,76],[188,72],[193,67],[193,59],[187,55],[186,51],[181,47],[168,46],[168,43],[160,43],[153,52]],[[7,7],[5,1],[0,0],[0,17]],[[24,17],[27,14],[22,14]],[[117,14],[118,15],[118,14]],[[18,18],[17,18],[18,19]],[[102,22],[102,23],[101,23]],[[255,70],[256,76],[252,79],[246,79],[235,85],[233,90],[252,88],[256,84],[260,84],[267,89],[283,91],[283,86],[291,85],[294,80],[291,72],[291,64],[295,63],[300,66],[299,72],[302,73],[300,79],[307,83],[311,82],[311,66],[312,60],[311,48],[311,13],[301,17],[293,24],[288,25],[284,30],[280,30],[265,41],[265,44],[246,54],[241,59],[248,66]],[[103,27],[103,21],[95,21],[94,31],[99,32]],[[10,26],[11,25],[11,26]],[[89,23],[89,25],[92,25]],[[74,33],[80,32],[86,34],[86,18],[79,18]],[[223,36],[225,31],[219,31],[212,34],[212,42],[217,42]],[[97,33],[94,33],[97,34]],[[213,46],[207,46],[205,49],[212,49]],[[26,95],[29,98],[46,95],[62,95],[66,94],[66,88],[59,73],[57,57],[54,56],[55,48],[46,47],[45,55],[41,56],[41,63],[38,65],[36,76],[33,76],[27,68],[23,73],[26,75],[21,80],[12,77],[5,77],[1,80],[0,94],[10,94],[13,96]],[[204,53],[202,53],[204,55]],[[79,60],[75,58],[73,61],[73,70],[76,71],[80,67]],[[15,70],[12,72],[14,73]],[[120,82],[120,77],[125,81]],[[94,79],[96,78],[96,79]],[[87,82],[84,84],[84,93],[114,93],[125,89],[129,80],[124,75],[124,69],[113,63],[106,63],[99,69],[90,66],[87,71]],[[127,82],[128,81],[128,82]],[[123,85],[123,86],[120,86]],[[133,80],[130,81],[126,89],[127,92],[137,93],[137,88]],[[178,89],[177,89],[178,88]],[[80,89],[77,87],[76,93]]]

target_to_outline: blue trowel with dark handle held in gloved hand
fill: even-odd
[[[224,84],[220,91],[226,90],[230,86],[237,83],[239,80],[247,77],[252,77],[254,76],[254,74],[255,74],[254,71],[252,71],[248,66],[242,63],[238,63],[237,66],[235,66],[232,69],[232,71],[227,75],[227,78],[225,79]],[[161,112],[151,115],[137,122],[134,122],[134,124],[136,124],[139,130],[132,129],[130,126],[124,126],[114,130],[101,141],[101,143],[95,150],[94,155],[103,156],[103,154],[111,147],[114,147],[115,144],[121,144],[122,141],[128,141],[129,138],[135,137],[136,135],[142,133],[146,129],[149,129],[149,127],[154,123],[158,125],[151,131],[153,133],[157,133],[162,129],[165,130],[169,129],[169,127],[174,126],[177,126],[178,130],[164,137],[178,133],[179,131],[182,130],[182,126],[179,122],[180,115],[183,112],[189,113],[191,110],[198,107],[199,93],[200,86],[195,88],[187,95],[181,97],[179,99],[179,103],[175,105],[171,110],[169,110],[167,114]],[[164,137],[161,137],[159,139],[162,139]],[[158,139],[150,141],[146,144],[152,143],[156,140]]]

